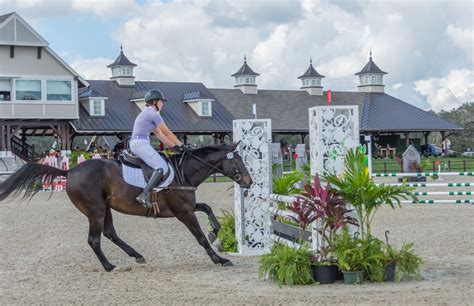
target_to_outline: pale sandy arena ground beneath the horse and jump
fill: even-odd
[[[472,179],[471,179],[472,180]],[[203,184],[199,202],[216,213],[233,207],[231,184]],[[382,208],[373,231],[415,243],[423,280],[278,288],[258,278],[257,257],[215,266],[177,220],[114,213],[119,236],[148,261],[139,265],[107,239],[103,250],[120,271],[104,272],[87,244],[87,219],[65,193],[0,203],[0,304],[450,304],[474,303],[474,206]],[[204,214],[199,214],[203,228]]]

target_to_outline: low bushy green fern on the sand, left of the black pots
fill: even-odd
[[[306,245],[291,248],[275,243],[270,253],[260,257],[259,276],[276,281],[279,287],[312,284],[311,251]]]

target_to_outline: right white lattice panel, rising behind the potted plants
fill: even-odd
[[[358,107],[344,105],[310,108],[309,141],[311,175],[325,171],[342,173],[348,150],[359,145]]]

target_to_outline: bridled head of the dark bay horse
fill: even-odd
[[[252,185],[252,177],[244,165],[242,157],[236,151],[239,143],[232,143],[225,153],[225,160],[222,162],[223,174],[234,180],[241,188],[250,188]]]

